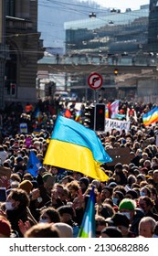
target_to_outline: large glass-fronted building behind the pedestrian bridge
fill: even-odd
[[[135,54],[148,42],[149,5],[66,22],[67,54]]]

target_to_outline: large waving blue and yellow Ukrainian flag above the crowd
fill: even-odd
[[[109,177],[100,165],[108,162],[112,162],[111,156],[105,152],[94,131],[72,119],[58,116],[44,165],[55,165],[106,181]]]

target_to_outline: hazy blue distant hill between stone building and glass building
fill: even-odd
[[[84,19],[90,13],[104,16],[108,8],[92,1],[38,0],[38,31],[44,47],[63,48],[65,40],[64,22]]]

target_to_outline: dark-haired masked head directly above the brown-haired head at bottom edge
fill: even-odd
[[[60,217],[58,214],[58,210],[52,207],[43,208],[40,211],[40,219],[39,222],[44,223],[56,223],[60,221]]]

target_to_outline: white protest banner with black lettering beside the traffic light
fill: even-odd
[[[105,119],[105,131],[109,132],[112,129],[115,129],[117,131],[125,130],[127,133],[130,130],[130,121],[121,121],[111,118]]]

